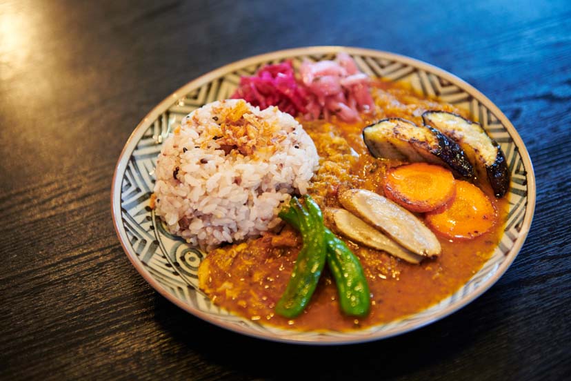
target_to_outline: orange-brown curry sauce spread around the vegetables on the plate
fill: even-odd
[[[363,127],[385,117],[402,117],[422,124],[421,114],[425,110],[445,110],[468,116],[449,104],[423,99],[411,90],[385,81],[374,81],[373,95],[376,114],[359,123],[300,120],[320,156],[321,166],[312,179],[309,193],[322,209],[339,207],[337,190],[340,187],[364,188],[382,195],[386,169],[402,164],[374,159],[363,143]],[[483,266],[499,244],[508,215],[507,197],[496,199],[487,184],[478,180],[476,184],[497,210],[496,225],[473,240],[439,237],[442,253],[435,260],[409,264],[382,251],[345,240],[361,260],[370,287],[372,305],[366,317],[349,317],[341,313],[337,288],[327,266],[309,306],[299,317],[288,320],[274,312],[301,248],[301,239],[288,226],[281,233],[209,253],[200,268],[201,289],[215,304],[232,313],[264,324],[303,331],[361,329],[416,313],[457,291]],[[423,219],[423,215],[419,214],[419,218]],[[332,227],[327,220],[325,224]]]

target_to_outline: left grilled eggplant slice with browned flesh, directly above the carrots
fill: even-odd
[[[458,144],[430,126],[417,126],[401,118],[383,119],[363,128],[363,140],[377,158],[428,162],[450,168],[461,177],[474,175]]]

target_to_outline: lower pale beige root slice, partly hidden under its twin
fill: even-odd
[[[385,251],[413,264],[419,264],[424,258],[403,248],[403,246],[397,244],[397,242],[394,242],[353,213],[345,211],[345,209],[328,208],[326,213],[332,215],[336,230],[350,240]]]

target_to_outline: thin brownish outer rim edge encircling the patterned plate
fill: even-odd
[[[339,51],[348,52],[350,55],[363,55],[363,56],[370,56],[370,57],[377,57],[380,59],[390,59],[392,61],[398,61],[405,65],[412,66],[414,68],[418,68],[424,70],[425,72],[430,72],[438,77],[441,77],[450,82],[450,84],[454,84],[458,86],[461,90],[468,93],[477,99],[485,108],[488,108],[490,112],[497,117],[497,119],[501,122],[501,124],[505,127],[508,131],[510,137],[514,141],[515,146],[517,146],[519,150],[519,155],[521,157],[521,161],[523,163],[523,167],[525,168],[525,179],[527,181],[527,204],[525,206],[525,217],[523,219],[521,225],[521,231],[517,237],[517,240],[514,241],[512,248],[510,249],[509,253],[506,255],[505,260],[501,263],[499,268],[495,271],[495,273],[486,279],[482,284],[479,284],[476,289],[470,291],[468,295],[465,295],[459,300],[448,304],[445,308],[443,308],[438,313],[435,313],[432,318],[427,318],[422,320],[421,322],[414,322],[414,324],[408,324],[405,326],[399,326],[393,329],[388,329],[385,331],[380,331],[377,333],[372,333],[371,335],[356,335],[352,332],[348,333],[332,333],[329,335],[327,332],[325,333],[317,333],[317,335],[313,336],[314,338],[319,338],[319,340],[308,340],[308,336],[304,335],[303,332],[297,333],[296,331],[289,331],[283,330],[284,334],[277,334],[272,333],[271,331],[265,331],[260,333],[259,331],[255,331],[248,326],[243,325],[231,325],[227,322],[220,321],[217,319],[216,315],[212,315],[210,313],[206,313],[200,311],[199,309],[195,309],[194,307],[186,304],[185,302],[179,300],[177,297],[172,295],[169,291],[163,288],[157,280],[148,272],[148,270],[143,266],[137,254],[132,251],[132,247],[130,246],[130,242],[128,241],[128,237],[124,230],[123,225],[121,224],[121,182],[123,180],[123,174],[125,173],[126,166],[130,159],[130,154],[134,150],[135,146],[141,139],[143,133],[150,127],[152,122],[159,117],[165,110],[167,110],[172,104],[174,104],[181,96],[186,95],[190,90],[194,88],[198,88],[203,84],[207,84],[208,82],[217,79],[218,77],[223,76],[228,72],[232,72],[239,68],[243,68],[246,66],[250,66],[252,64],[257,64],[261,61],[273,61],[279,59],[285,59],[288,57],[296,57],[301,55],[326,55],[326,54],[334,54]],[[119,176],[121,175],[121,176]],[[137,127],[133,130],[132,134],[130,135],[128,141],[126,142],[123,150],[121,151],[121,155],[119,155],[119,159],[117,161],[117,166],[114,170],[114,175],[112,179],[112,186],[111,186],[111,212],[113,217],[113,225],[115,228],[115,232],[117,233],[117,237],[119,237],[119,242],[121,242],[121,246],[123,247],[123,251],[125,251],[128,259],[134,266],[134,268],[139,271],[139,273],[143,276],[143,278],[161,295],[166,297],[172,303],[179,306],[181,309],[192,313],[192,315],[199,317],[202,320],[206,320],[214,325],[220,326],[224,329],[228,329],[230,331],[234,331],[237,333],[241,333],[243,335],[248,335],[254,338],[261,338],[265,340],[272,340],[276,342],[286,342],[286,343],[295,343],[295,344],[317,344],[317,345],[328,345],[328,344],[354,344],[359,342],[369,342],[373,340],[380,340],[383,338],[390,338],[395,335],[399,335],[401,333],[406,333],[409,331],[413,331],[415,329],[419,329],[422,326],[426,326],[431,324],[432,322],[436,322],[437,320],[441,320],[443,317],[450,315],[458,311],[459,309],[463,308],[470,302],[474,301],[477,297],[485,293],[490,287],[499,280],[499,278],[507,271],[508,267],[512,264],[515,257],[521,250],[521,246],[525,242],[525,238],[528,235],[530,230],[530,226],[532,223],[534,210],[535,210],[535,199],[536,199],[536,184],[535,184],[535,176],[534,170],[532,166],[532,162],[530,159],[530,155],[528,153],[527,148],[525,148],[525,144],[523,144],[523,140],[517,133],[517,130],[511,124],[509,119],[503,115],[501,110],[492,102],[488,97],[485,97],[479,90],[468,84],[467,82],[463,81],[459,77],[447,72],[437,66],[433,66],[431,64],[427,64],[423,61],[419,61],[417,59],[412,59],[410,57],[406,57],[403,55],[397,55],[391,52],[384,52],[381,50],[372,50],[367,48],[353,48],[353,47],[345,47],[345,46],[308,46],[304,48],[294,48],[294,49],[287,49],[287,50],[278,50],[275,52],[268,52],[262,55],[256,55],[252,57],[248,57],[246,59],[241,59],[239,61],[234,61],[231,64],[226,66],[222,66],[215,70],[212,70],[204,75],[201,75],[197,79],[190,81],[188,84],[182,86],[171,95],[166,97],[161,103],[155,106],[146,117],[141,120],[141,122],[137,125]],[[365,329],[365,331],[368,331]]]

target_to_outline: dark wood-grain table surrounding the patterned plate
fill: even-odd
[[[0,2],[1,378],[569,379],[570,18],[568,0]],[[114,232],[114,166],[149,110],[224,64],[312,45],[458,75],[532,157],[521,253],[487,293],[418,331],[331,347],[243,337],[161,297]]]

